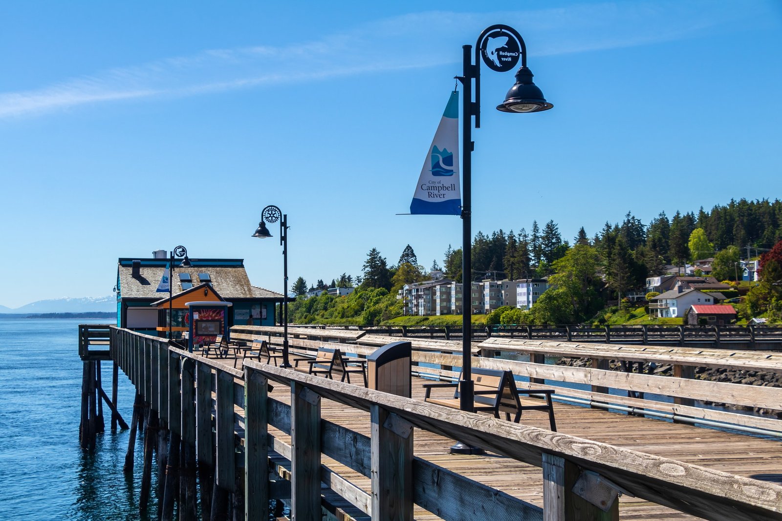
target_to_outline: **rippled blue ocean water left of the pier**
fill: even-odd
[[[142,448],[137,438],[134,476],[122,466],[129,430],[106,432],[95,451],[79,445],[81,368],[78,324],[106,319],[0,319],[0,519],[152,519],[138,513]],[[111,362],[102,362],[111,395]],[[131,423],[134,389],[120,371],[118,402]],[[155,490],[156,469],[152,471]],[[154,492],[149,512],[156,514]]]

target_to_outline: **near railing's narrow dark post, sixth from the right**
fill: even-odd
[[[195,455],[198,458],[199,488],[203,521],[210,521],[214,466],[212,437],[212,369],[197,363],[195,387]]]

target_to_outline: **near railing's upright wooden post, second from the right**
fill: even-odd
[[[413,426],[370,406],[372,518],[413,519]]]

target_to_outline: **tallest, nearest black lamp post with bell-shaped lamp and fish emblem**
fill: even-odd
[[[475,43],[475,65],[472,63],[472,45],[463,45],[464,76],[457,77],[464,88],[462,100],[462,191],[461,204],[461,282],[462,282],[462,352],[461,381],[459,382],[460,409],[472,412],[475,387],[472,384],[472,163],[471,155],[475,143],[472,141],[472,116],[475,116],[475,128],[481,126],[481,80],[480,62],[491,70],[500,73],[512,70],[521,58],[522,66],[516,72],[516,81],[505,96],[505,101],[497,105],[502,112],[541,112],[554,105],[543,98],[543,93],[533,83],[533,73],[527,68],[527,49],[522,36],[512,27],[497,24],[486,28]],[[472,101],[472,82],[475,80],[475,102]],[[472,454],[480,449],[457,443],[450,448],[454,454]]]

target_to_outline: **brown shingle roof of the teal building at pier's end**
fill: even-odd
[[[125,259],[123,259],[125,260]],[[149,259],[145,259],[149,260]],[[120,281],[120,295],[122,298],[150,298],[158,300],[167,297],[168,292],[157,292],[157,286],[163,277],[163,272],[168,264],[167,261],[156,259],[159,266],[142,266],[139,268],[139,277],[132,275],[133,268],[129,262],[119,262],[117,266],[117,275]],[[182,291],[180,273],[189,273],[193,285],[199,284],[198,274],[209,273],[212,287],[223,298],[230,301],[234,298],[270,298],[282,300],[282,294],[276,291],[256,287],[250,284],[244,265],[241,262],[235,262],[226,266],[216,266],[217,262],[212,262],[207,266],[199,266],[197,259],[191,259],[194,266],[189,268],[176,267],[174,277],[171,277],[171,291],[178,294]]]

